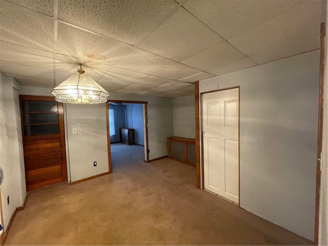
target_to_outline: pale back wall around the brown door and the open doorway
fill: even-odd
[[[19,93],[24,95],[51,96],[51,90],[51,88],[21,86]],[[148,138],[150,149],[149,158],[155,159],[168,154],[167,137],[173,135],[171,98],[112,93],[109,99],[148,101]],[[72,176],[72,181],[106,172],[107,169],[105,169],[103,165],[98,166],[99,168],[93,168],[93,161],[98,161],[100,158],[101,163],[105,162],[104,153],[107,153],[107,140],[106,142],[104,139],[100,140],[101,144],[96,144],[96,142],[99,140],[99,134],[104,134],[104,136],[107,136],[107,129],[106,125],[104,124],[104,122],[106,122],[105,104],[91,106],[67,104],[65,113],[67,118],[67,126],[65,126],[65,131],[66,134],[68,134],[68,140],[66,142],[68,147],[67,154],[69,155],[68,165],[71,167],[70,168],[68,166],[68,169],[71,170],[70,174]],[[71,128],[73,126],[81,127],[80,131],[77,129],[78,133],[76,136],[71,134]],[[79,132],[82,134],[79,135]],[[92,132],[94,134],[89,134],[88,132]],[[83,146],[79,148],[79,151],[77,151],[75,148],[77,148],[77,144],[80,144],[79,140],[83,140],[85,142],[83,142]],[[95,146],[98,148],[97,152],[90,156],[90,158],[79,157],[81,153],[88,153],[90,150],[94,149]],[[90,160],[92,160],[92,166],[90,164]]]

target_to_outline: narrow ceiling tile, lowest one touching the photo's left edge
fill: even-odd
[[[0,61],[0,71],[3,73],[10,73],[15,75],[53,79],[53,71],[50,69],[13,64],[8,63],[7,61]]]

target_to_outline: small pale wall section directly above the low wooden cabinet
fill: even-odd
[[[195,96],[173,99],[173,134],[195,138]]]

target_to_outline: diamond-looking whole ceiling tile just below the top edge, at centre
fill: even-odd
[[[137,46],[178,61],[221,40],[194,16],[180,8]]]

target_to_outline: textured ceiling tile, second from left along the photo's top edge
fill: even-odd
[[[175,7],[168,0],[65,0],[59,1],[58,18],[121,42],[136,44]]]

